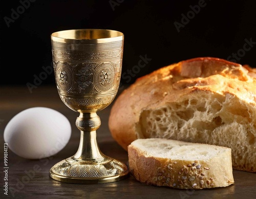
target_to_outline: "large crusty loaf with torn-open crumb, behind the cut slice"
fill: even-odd
[[[137,79],[113,103],[109,128],[127,150],[166,138],[232,149],[234,169],[256,172],[255,69],[201,57]]]

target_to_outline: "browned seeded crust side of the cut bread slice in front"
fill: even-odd
[[[147,185],[203,189],[234,184],[230,148],[207,161],[146,157],[132,144],[127,149],[131,174]]]

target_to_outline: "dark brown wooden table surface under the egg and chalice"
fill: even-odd
[[[204,190],[180,190],[142,184],[130,175],[125,180],[96,185],[69,184],[55,181],[49,176],[49,169],[57,162],[73,156],[78,149],[80,132],[75,126],[78,113],[63,104],[55,86],[38,86],[28,90],[27,86],[0,87],[0,133],[2,171],[0,198],[256,198],[256,173],[233,170],[235,184],[225,188]],[[121,91],[120,91],[121,92]],[[120,93],[119,92],[119,93]],[[41,160],[27,160],[8,151],[8,195],[4,194],[4,129],[16,114],[30,107],[44,106],[65,115],[72,125],[72,136],[65,148],[53,157]],[[111,105],[98,115],[101,126],[97,130],[97,141],[107,156],[127,164],[127,152],[111,137],[108,118]],[[39,168],[33,173],[34,166]]]

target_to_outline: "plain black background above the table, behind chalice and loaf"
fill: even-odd
[[[191,6],[200,1],[1,1],[1,85],[32,83],[43,67],[52,63],[50,34],[66,29],[112,29],[124,33],[121,83],[133,83],[138,77],[165,65],[194,57],[211,56],[256,67],[255,1],[205,0],[198,13]],[[22,7],[20,7],[22,6]],[[6,23],[12,12],[22,12]],[[184,15],[190,14],[184,23]],[[174,23],[182,23],[177,31]],[[15,17],[14,17],[15,18]],[[8,27],[9,26],[9,27]],[[239,53],[237,58],[233,53]],[[138,70],[141,57],[148,62]],[[132,75],[127,77],[127,70]],[[54,84],[54,74],[39,84]]]

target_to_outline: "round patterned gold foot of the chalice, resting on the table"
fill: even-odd
[[[125,179],[127,166],[110,157],[101,160],[75,160],[67,158],[50,169],[52,179],[76,184],[111,183]]]

